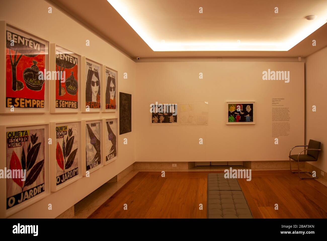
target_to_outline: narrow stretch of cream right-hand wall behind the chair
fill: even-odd
[[[326,153],[324,148],[327,142],[327,48],[310,55],[305,63],[305,90],[306,90],[306,145],[313,139],[321,142],[321,149],[317,162],[309,162],[315,167],[327,172]],[[316,111],[313,110],[316,106]],[[320,174],[320,173],[319,173]]]

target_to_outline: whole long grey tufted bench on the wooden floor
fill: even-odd
[[[208,174],[208,218],[253,218],[237,179]]]

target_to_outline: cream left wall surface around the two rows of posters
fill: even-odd
[[[52,13],[48,8],[52,7]],[[18,28],[39,36],[50,43],[73,51],[81,56],[86,56],[100,64],[107,65],[118,71],[118,91],[132,94],[132,107],[136,106],[135,73],[136,63],[126,57],[110,44],[85,29],[69,16],[56,9],[43,0],[31,1],[3,1],[0,8],[0,21],[5,20]],[[108,26],[109,28],[110,26]],[[4,37],[4,36],[2,36]],[[86,46],[90,40],[90,46]],[[128,79],[123,78],[123,73],[128,73]],[[4,80],[2,80],[4,81]],[[116,95],[117,101],[118,93]],[[4,104],[4,103],[3,103]],[[118,103],[119,106],[119,103]],[[76,182],[43,198],[31,206],[13,214],[12,218],[55,218],[89,193],[103,185],[135,162],[135,108],[132,108],[132,132],[118,135],[118,159]],[[116,113],[66,113],[66,114],[1,114],[1,125],[31,125],[38,123],[79,121],[102,118],[118,118]],[[123,139],[128,138],[128,145],[123,145]],[[5,145],[1,138],[1,145]],[[55,160],[54,160],[55,161]],[[4,167],[0,167],[4,169]],[[5,179],[0,179],[1,195],[5,192]],[[0,205],[4,207],[6,200],[1,196]],[[48,210],[52,204],[52,210]],[[0,217],[3,217],[0,213]]]

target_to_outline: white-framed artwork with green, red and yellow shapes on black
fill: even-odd
[[[255,124],[255,102],[226,102],[226,124]]]

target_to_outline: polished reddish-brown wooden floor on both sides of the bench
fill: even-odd
[[[139,172],[89,218],[206,218],[208,173]],[[327,218],[327,187],[316,180],[252,171],[251,181],[238,182],[254,218]]]

